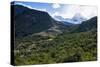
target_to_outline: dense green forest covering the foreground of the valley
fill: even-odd
[[[16,65],[47,64],[97,60],[96,30],[63,33],[54,37],[27,36],[18,40]]]

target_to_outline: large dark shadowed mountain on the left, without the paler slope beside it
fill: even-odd
[[[55,22],[47,12],[29,9],[22,5],[12,5],[12,7],[15,10],[14,23],[16,36],[26,36],[47,30]]]

